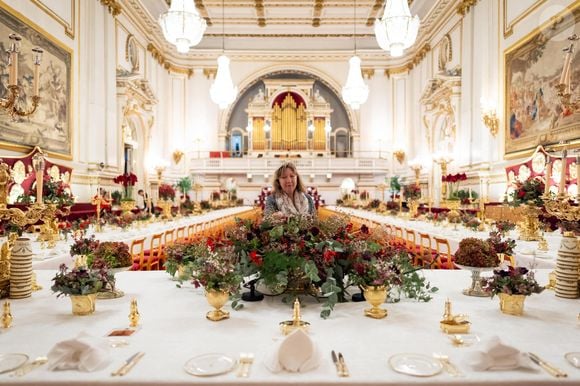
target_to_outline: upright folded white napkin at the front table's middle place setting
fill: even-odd
[[[273,373],[305,373],[320,364],[316,345],[303,330],[295,330],[266,356],[265,365]]]

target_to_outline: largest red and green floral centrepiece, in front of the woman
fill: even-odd
[[[385,235],[378,231],[371,233],[366,226],[354,231],[344,216],[317,220],[274,215],[261,223],[240,222],[228,232],[227,239],[241,256],[244,276],[258,275],[274,293],[284,291],[292,297],[296,293],[324,295],[320,313],[323,318],[330,315],[337,302],[345,300],[347,288],[355,284],[352,279],[347,280],[349,277],[358,277],[358,283],[362,283],[363,277],[370,280],[370,272],[384,273],[381,278],[388,278],[393,286],[408,283],[405,277],[412,282],[405,288],[415,287],[414,291],[402,292],[429,300],[428,296],[423,297],[424,282],[406,254],[398,257],[399,253],[384,246]],[[360,270],[368,262],[377,264],[376,271],[374,266]],[[359,264],[359,271],[355,271],[355,263]],[[391,268],[392,272],[387,273]],[[379,280],[378,276],[374,280]]]

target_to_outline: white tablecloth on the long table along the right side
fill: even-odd
[[[472,231],[462,225],[459,225],[457,229],[453,229],[452,226],[434,225],[433,223],[420,220],[410,221],[402,217],[382,215],[367,210],[332,206],[327,208],[348,215],[367,218],[381,224],[395,225],[402,227],[403,229],[410,228],[422,233],[428,233],[431,236],[447,239],[449,240],[449,246],[451,247],[452,253],[455,253],[459,247],[459,242],[466,237],[475,237],[479,239],[487,239],[489,237],[489,231]],[[562,240],[560,233],[554,232],[545,234],[544,237],[548,243],[548,251],[545,252],[538,250],[537,241],[518,240],[517,231],[511,231],[508,237],[516,240],[516,248],[514,252],[517,265],[529,268],[556,268],[558,248],[560,248],[560,242]],[[433,243],[431,247],[435,248],[435,243]]]

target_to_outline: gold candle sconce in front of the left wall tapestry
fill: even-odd
[[[0,98],[0,107],[4,108],[8,114],[14,119],[17,116],[24,117],[34,114],[38,103],[40,101],[39,88],[40,88],[40,76],[39,67],[42,60],[43,51],[35,47],[32,49],[32,63],[34,65],[34,78],[33,78],[33,95],[32,95],[32,107],[28,110],[24,110],[18,106],[18,99],[20,97],[20,87],[18,85],[18,55],[20,54],[20,45],[22,38],[17,34],[10,34],[10,44],[7,50],[10,55],[8,59],[8,96],[6,98]]]

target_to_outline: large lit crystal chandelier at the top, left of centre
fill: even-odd
[[[172,0],[169,10],[159,16],[159,25],[165,39],[186,54],[196,46],[207,28],[205,20],[199,16],[193,0]]]

